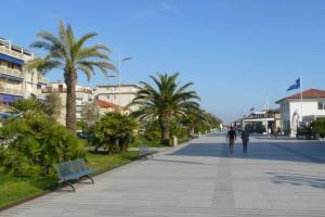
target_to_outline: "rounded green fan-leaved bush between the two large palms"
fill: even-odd
[[[135,138],[138,122],[120,113],[106,113],[94,126],[93,144],[96,150],[103,146],[108,153],[126,151]]]

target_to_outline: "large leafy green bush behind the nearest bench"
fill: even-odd
[[[0,136],[10,141],[2,165],[16,176],[51,174],[54,164],[86,154],[76,136],[46,115],[26,114],[1,128]]]

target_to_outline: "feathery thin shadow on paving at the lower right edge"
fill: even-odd
[[[274,183],[287,183],[292,186],[308,186],[313,188],[325,188],[325,177],[310,176],[302,174],[289,174],[289,173],[265,173],[271,176],[271,180]]]

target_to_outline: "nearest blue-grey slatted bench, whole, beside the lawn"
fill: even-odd
[[[69,187],[72,187],[73,191],[76,191],[75,187],[70,182],[73,180],[88,178],[92,183],[94,183],[93,179],[90,176],[94,171],[87,167],[84,159],[79,158],[56,164],[55,169],[60,178],[60,184],[67,183]]]

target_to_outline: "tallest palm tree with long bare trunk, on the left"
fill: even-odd
[[[88,80],[99,68],[104,75],[108,69],[115,71],[107,55],[109,49],[104,44],[87,47],[86,42],[95,37],[96,33],[88,33],[79,39],[75,37],[70,25],[58,23],[58,35],[41,31],[37,36],[39,40],[30,47],[47,51],[44,58],[36,58],[27,63],[27,66],[36,68],[44,74],[53,68],[63,69],[66,91],[66,126],[76,132],[76,85],[78,72],[86,74]]]

